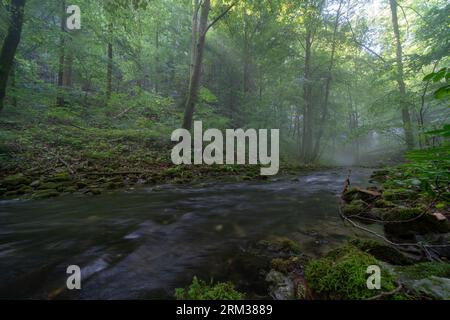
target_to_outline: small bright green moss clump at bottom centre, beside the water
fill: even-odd
[[[208,285],[194,277],[188,289],[175,290],[175,298],[177,300],[242,300],[245,295],[236,291],[231,283],[219,282]]]

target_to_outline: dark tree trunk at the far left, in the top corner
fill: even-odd
[[[11,1],[11,21],[0,52],[0,111],[3,109],[8,77],[13,67],[14,56],[22,34],[24,8],[25,0]]]

